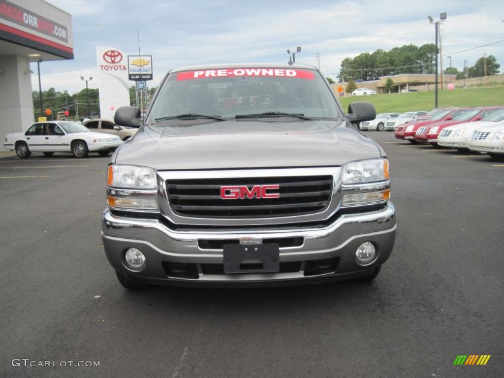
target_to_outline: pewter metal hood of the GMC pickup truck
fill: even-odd
[[[336,166],[380,156],[370,138],[343,120],[242,119],[143,126],[114,157],[117,164],[176,170]]]

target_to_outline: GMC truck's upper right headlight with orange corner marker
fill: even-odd
[[[389,178],[389,161],[387,159],[352,161],[342,167],[341,181],[343,184],[383,181]]]

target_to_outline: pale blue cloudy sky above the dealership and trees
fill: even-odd
[[[341,61],[378,48],[390,50],[404,44],[434,43],[434,25],[441,25],[443,68],[462,71],[464,60],[494,55],[504,73],[504,3],[501,0],[49,0],[72,15],[73,60],[41,64],[42,90],[54,87],[74,93],[85,84],[81,76],[97,79],[96,46],[152,55],[157,86],[172,68],[180,66],[287,62],[287,49],[295,50],[296,62],[318,66],[336,79]],[[103,25],[103,26],[99,26]],[[465,49],[503,41],[489,46]],[[38,88],[36,64],[32,87]],[[91,88],[98,83],[91,81]],[[133,82],[131,83],[134,84]]]

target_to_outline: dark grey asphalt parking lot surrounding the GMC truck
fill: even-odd
[[[365,134],[398,222],[372,284],[128,292],[101,247],[108,158],[0,159],[0,375],[502,376],[504,162]]]

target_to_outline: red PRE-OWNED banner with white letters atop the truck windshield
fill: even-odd
[[[235,68],[219,70],[186,71],[177,74],[177,80],[208,79],[222,77],[270,76],[313,80],[313,71],[279,68]]]

